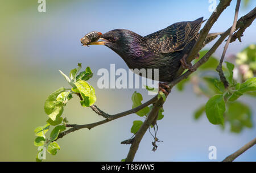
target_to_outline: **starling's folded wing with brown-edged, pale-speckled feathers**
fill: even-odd
[[[147,46],[160,53],[171,53],[183,50],[199,32],[203,18],[192,22],[179,22],[145,36]]]

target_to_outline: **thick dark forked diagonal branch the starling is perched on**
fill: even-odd
[[[225,3],[224,3],[225,2]],[[195,47],[192,48],[192,50],[189,52],[189,54],[191,54],[191,57],[195,57],[195,54],[197,52],[199,52],[201,46],[203,45],[203,41],[205,40],[205,37],[207,36],[210,28],[213,26],[213,23],[216,22],[216,20],[218,19],[218,16],[220,16],[221,12],[227,7],[229,6],[230,1],[221,1],[220,4],[217,6],[217,12],[213,13],[212,16],[210,16],[209,20],[209,24],[205,24],[204,28],[201,30],[199,40],[197,41],[197,44],[195,45]],[[220,7],[220,5],[222,7]],[[225,6],[224,6],[225,5]],[[246,14],[245,16],[243,16],[242,18],[240,18],[240,20],[238,20],[238,24],[237,24],[237,28],[240,28],[242,25],[241,23],[246,22],[247,18],[250,18],[251,14],[254,14],[256,12],[255,9],[253,9],[252,11],[250,11],[248,14]],[[247,26],[245,24],[245,26]],[[249,25],[250,26],[250,25]],[[249,27],[247,26],[247,27]],[[220,44],[225,40],[225,38],[229,35],[231,31],[231,28],[229,28],[226,32],[224,32],[220,39],[218,39],[216,41],[216,43],[213,45],[213,47],[205,54],[205,56],[203,58],[201,58],[195,65],[193,65],[193,69],[197,69],[199,66],[203,65],[205,62],[207,62],[209,60],[209,57],[215,52],[215,50],[220,46]],[[204,37],[205,36],[205,37]],[[201,38],[201,39],[200,39]],[[203,40],[201,42],[201,40]],[[192,53],[191,53],[192,52]],[[195,54],[193,54],[195,53]],[[193,60],[193,58],[191,59],[191,61]],[[182,67],[181,67],[182,68]],[[181,70],[179,69],[179,71],[177,71],[177,74],[181,74],[184,71],[184,69],[182,68]],[[168,83],[168,86],[170,86],[170,91],[172,89],[172,87],[174,87],[177,83],[179,83],[180,81],[182,81],[183,79],[187,78],[190,74],[192,74],[193,71],[188,70],[187,72],[185,72],[183,75],[180,75],[179,77],[177,77],[176,79],[174,79],[172,82]],[[126,158],[126,162],[131,162],[133,161],[135,154],[138,150],[139,147],[139,143],[142,140],[142,137],[144,136],[144,134],[146,133],[146,130],[148,129],[148,127],[150,126],[150,124],[152,123],[152,121],[154,121],[155,117],[158,116],[158,111],[159,111],[159,106],[163,105],[163,100],[162,98],[159,99],[156,103],[155,106],[151,109],[150,114],[148,115],[147,119],[144,121],[144,123],[142,124],[141,128],[138,130],[138,132],[135,134],[134,137],[134,141],[133,144],[130,147],[129,153],[127,155]]]

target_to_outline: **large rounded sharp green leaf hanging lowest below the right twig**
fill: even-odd
[[[210,98],[205,105],[205,113],[212,124],[224,125],[225,101],[223,96],[218,94]]]

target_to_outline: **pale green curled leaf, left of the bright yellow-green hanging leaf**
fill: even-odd
[[[52,94],[48,96],[46,102],[44,103],[44,111],[46,112],[47,115],[50,115],[55,110],[55,106],[57,104],[56,102],[57,96],[64,91],[65,91],[65,88],[61,87],[58,90],[52,92]]]

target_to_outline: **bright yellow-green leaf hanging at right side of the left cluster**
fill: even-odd
[[[79,80],[74,83],[80,91],[82,98],[81,105],[84,107],[92,106],[96,102],[95,90],[86,81]]]

